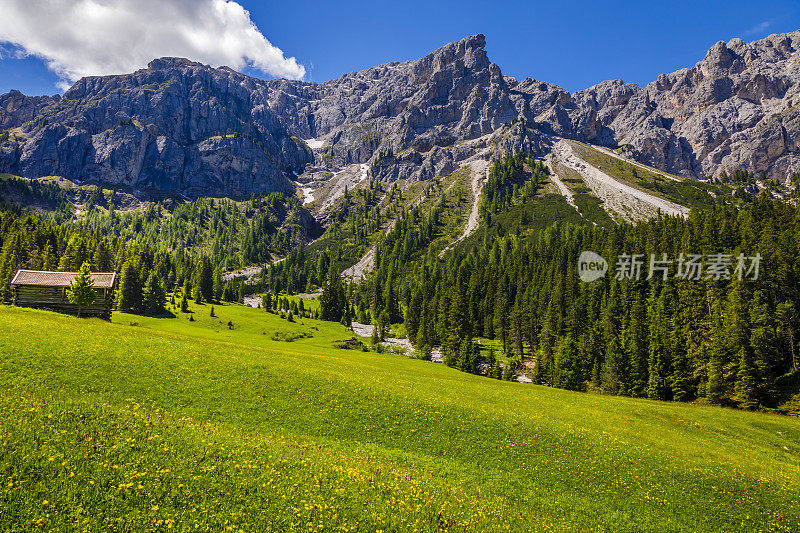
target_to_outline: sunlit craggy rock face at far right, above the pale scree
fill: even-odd
[[[798,169],[798,49],[800,31],[732,39],[644,88],[605,82],[575,96],[586,102],[591,93],[613,142],[644,163],[685,176],[742,168],[785,180]]]

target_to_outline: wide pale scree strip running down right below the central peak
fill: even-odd
[[[631,187],[588,164],[575,154],[572,145],[564,139],[558,139],[553,145],[553,157],[583,176],[586,185],[603,200],[606,209],[613,210],[626,220],[649,218],[659,211],[681,217],[689,215],[688,208]]]

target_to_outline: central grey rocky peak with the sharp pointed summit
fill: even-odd
[[[322,84],[275,80],[270,106],[296,135],[324,138],[323,163],[367,163],[398,154],[380,179],[428,179],[455,170],[453,146],[518,116],[483,35],[406,63],[388,63]]]

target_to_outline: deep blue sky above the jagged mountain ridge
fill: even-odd
[[[186,5],[182,2],[186,1],[162,0],[158,5],[174,2],[180,11]],[[770,33],[800,29],[800,2],[797,0],[617,1],[611,4],[587,1],[299,3],[239,0],[239,4],[249,11],[251,21],[270,43],[280,48],[287,58],[296,58],[300,65],[297,68],[305,69],[304,79],[320,82],[388,61],[416,59],[450,41],[483,33],[489,58],[510,76],[531,76],[557,83],[570,91],[612,78],[645,84],[662,72],[693,65],[719,40],[741,37],[752,41]],[[203,15],[189,13],[185,16]],[[34,33],[50,30],[47,25],[52,23],[42,22],[41,17],[31,18]],[[7,40],[2,39],[7,35],[3,31],[0,23],[0,40]],[[100,53],[107,48],[106,43],[98,39],[95,37],[94,48],[81,50],[80,55],[90,55],[93,50]],[[65,75],[63,71],[69,70],[71,65],[62,65],[59,77],[40,58],[18,58],[26,47],[32,50],[36,46],[57,55],[58,50],[53,48],[59,46],[58,42],[41,44],[34,37],[19,37],[19,40],[30,44],[0,44],[0,93],[19,89],[26,94],[54,94],[58,92],[59,79],[64,86],[64,76],[107,73],[93,72],[93,68],[114,72],[114,66],[106,66],[107,58],[106,63],[103,59],[84,58],[80,67],[70,71],[79,74]],[[65,42],[68,40],[65,37]],[[145,53],[171,55],[168,40],[165,40],[163,52],[158,48],[158,39],[154,42],[154,47]],[[249,45],[242,46],[251,49]],[[69,57],[70,54],[75,55],[71,50],[63,55]],[[222,63],[228,56],[219,60],[217,57],[205,56],[206,62]],[[194,59],[202,61],[204,57]],[[60,65],[69,63],[68,59],[60,61]],[[269,77],[264,73],[265,68],[240,68],[259,77]],[[291,70],[292,66],[287,68],[286,72],[297,72]]]

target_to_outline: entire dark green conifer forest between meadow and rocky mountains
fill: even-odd
[[[250,213],[232,202],[198,200],[168,219],[152,205],[133,214],[98,210],[81,224],[6,208],[0,298],[8,299],[17,268],[78,270],[84,262],[119,272],[118,307],[135,312],[162,311],[156,304],[167,293],[174,308],[176,294],[237,301],[266,293],[267,307],[282,309],[291,303],[280,294],[323,287],[321,318],[374,323],[378,337],[390,324],[403,324],[420,354],[438,348],[446,364],[466,372],[498,378],[524,372],[573,390],[743,408],[783,401],[797,376],[796,205],[762,194],[737,206],[695,208],[686,219],[556,222],[535,230],[518,223],[499,231],[495,218],[538,201],[547,177],[542,163],[522,155],[495,163],[480,199],[482,231],[441,253],[431,243],[448,209],[443,193],[424,208],[406,209],[391,207],[402,205],[395,186],[347,191],[321,245],[292,247],[248,286],[222,281],[226,254],[235,250],[247,263],[263,263],[289,249],[292,239],[267,215],[286,204],[282,196],[258,200]],[[742,173],[731,179],[744,186],[754,180]],[[426,196],[436,198],[432,192]],[[382,231],[372,274],[342,280],[343,250],[363,253]],[[604,257],[608,274],[582,282],[583,251]],[[634,254],[642,261],[640,276],[617,264]],[[683,258],[692,254],[698,270],[686,275]],[[750,264],[756,255],[758,272]],[[749,270],[741,270],[740,256],[750,260]],[[661,265],[656,275],[649,275],[651,260]],[[479,339],[493,341],[497,353],[481,349]]]

